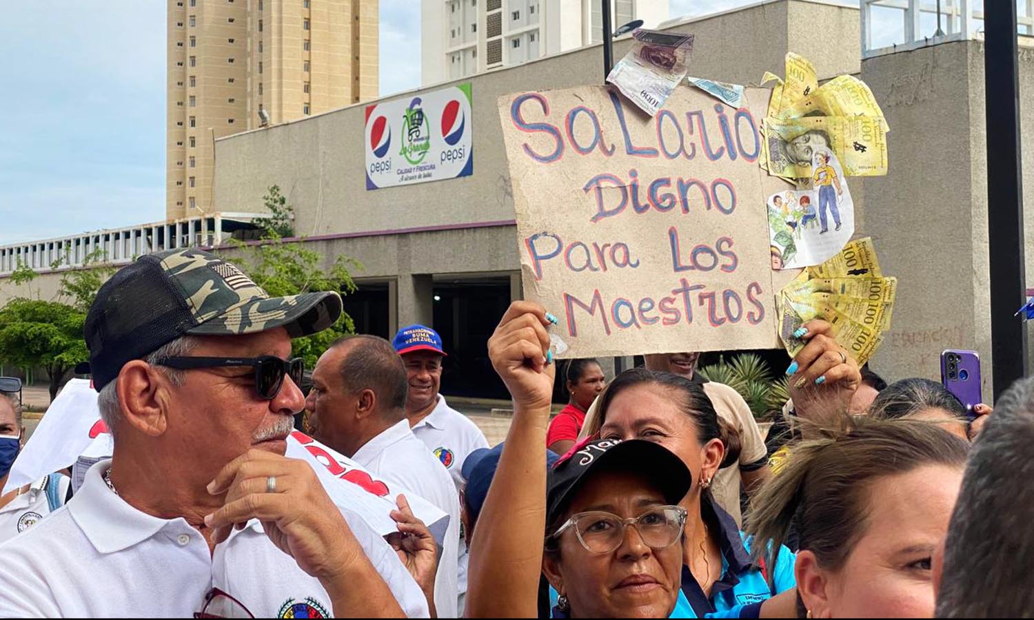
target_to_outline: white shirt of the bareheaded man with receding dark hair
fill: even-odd
[[[449,472],[401,420],[370,439],[352,459],[389,483],[417,493],[449,515],[442,558],[434,580],[434,607],[439,618],[457,616],[459,494]]]

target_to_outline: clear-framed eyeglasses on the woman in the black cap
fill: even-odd
[[[589,553],[611,553],[625,540],[625,529],[634,526],[650,549],[667,549],[682,535],[688,513],[680,506],[657,506],[639,517],[622,519],[611,513],[589,512],[572,515],[551,538],[574,528],[578,541]]]

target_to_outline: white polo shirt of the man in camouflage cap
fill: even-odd
[[[318,580],[257,521],[210,553],[186,520],[152,517],[113,493],[102,478],[110,464],[91,467],[64,508],[0,545],[0,617],[189,618],[213,587],[257,618],[334,614]],[[391,547],[359,516],[342,515],[402,611],[427,617],[423,593]]]

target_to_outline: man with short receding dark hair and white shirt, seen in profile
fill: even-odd
[[[453,618],[459,496],[449,473],[409,430],[406,392],[405,369],[387,340],[345,337],[331,345],[312,371],[306,422],[317,441],[449,515],[432,599],[438,616]]]

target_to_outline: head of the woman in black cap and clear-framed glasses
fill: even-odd
[[[590,440],[549,472],[552,616],[667,618],[679,601],[686,465],[649,441]],[[681,601],[683,607],[685,600]]]

